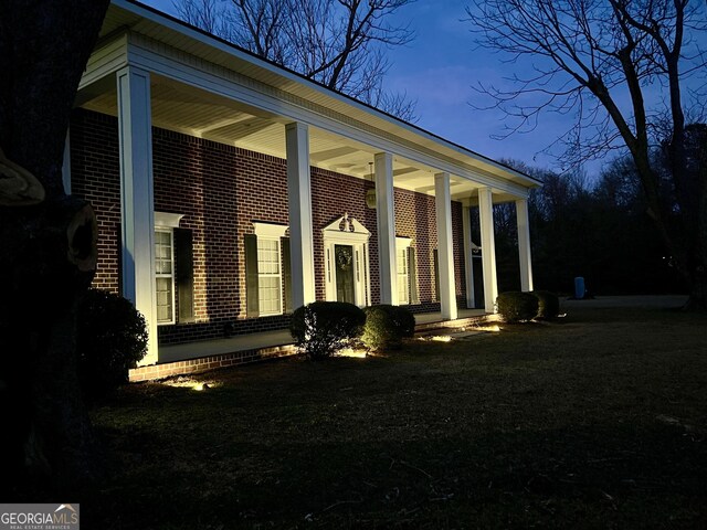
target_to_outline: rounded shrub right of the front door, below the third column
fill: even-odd
[[[404,307],[381,304],[363,309],[366,326],[361,341],[371,350],[394,350],[415,332],[415,317]]]

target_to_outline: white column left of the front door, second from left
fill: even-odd
[[[314,239],[312,227],[312,176],[309,171],[309,127],[285,126],[287,149],[287,195],[289,198],[289,257],[292,303],[297,308],[315,301]]]

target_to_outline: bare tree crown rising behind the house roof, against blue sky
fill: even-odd
[[[413,39],[389,22],[412,1],[175,0],[175,8],[190,24],[410,121],[414,102],[383,89],[383,52]]]

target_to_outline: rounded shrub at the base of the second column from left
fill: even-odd
[[[360,337],[366,314],[345,301],[314,301],[295,309],[289,332],[308,359],[336,354],[351,339]]]

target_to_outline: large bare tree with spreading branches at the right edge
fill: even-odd
[[[705,2],[476,0],[466,11],[478,44],[515,64],[510,88],[478,87],[515,118],[510,132],[532,130],[548,110],[571,113],[576,125],[559,140],[566,156],[627,148],[650,214],[690,285],[689,305],[705,308],[707,176],[705,168],[692,176],[685,147],[686,109],[699,116],[704,96],[685,81],[706,74]],[[675,202],[662,197],[651,156],[658,147],[667,152]]]

